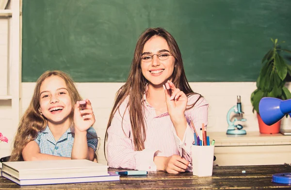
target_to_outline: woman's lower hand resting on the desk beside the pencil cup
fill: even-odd
[[[173,155],[165,158],[165,171],[169,174],[178,174],[185,172],[189,165],[189,161],[181,158],[178,155]]]

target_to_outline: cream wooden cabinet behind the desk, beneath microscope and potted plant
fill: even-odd
[[[226,132],[207,133],[215,140],[214,165],[262,165],[291,163],[291,135],[260,134],[226,135]]]

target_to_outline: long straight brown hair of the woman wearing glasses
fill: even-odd
[[[146,130],[145,130],[145,118],[144,118],[143,109],[142,109],[143,108],[142,98],[146,91],[147,80],[142,74],[140,63],[141,63],[141,56],[143,53],[144,45],[153,36],[160,36],[164,38],[168,43],[171,53],[175,57],[175,61],[176,61],[175,67],[174,67],[173,74],[171,76],[172,82],[175,84],[175,86],[179,88],[181,91],[183,91],[188,97],[190,95],[197,94],[193,92],[193,90],[191,89],[186,79],[181,52],[174,37],[169,32],[167,32],[166,30],[162,28],[147,29],[145,32],[143,32],[140,35],[137,41],[135,51],[134,51],[134,57],[132,59],[131,66],[130,66],[129,78],[127,79],[125,84],[118,90],[116,94],[113,109],[111,111],[109,121],[107,124],[105,141],[104,141],[104,153],[105,153],[105,143],[108,139],[107,130],[111,126],[111,122],[112,122],[115,112],[119,109],[119,106],[128,96],[129,96],[129,102],[127,105],[127,109],[129,109],[129,117],[130,117],[132,133],[133,133],[132,138],[133,138],[133,143],[134,143],[134,149],[136,151],[141,151],[145,149],[144,143],[146,140]],[[198,99],[200,99],[201,97],[202,96],[200,95]],[[187,109],[192,108],[194,104],[187,106]],[[123,114],[123,117],[124,117],[124,114]]]

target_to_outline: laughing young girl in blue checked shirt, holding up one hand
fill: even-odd
[[[32,101],[20,120],[9,161],[93,160],[97,134],[91,102],[80,106],[74,81],[62,71],[47,71],[36,81]]]

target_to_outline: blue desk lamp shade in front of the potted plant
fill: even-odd
[[[291,113],[291,99],[281,100],[274,97],[263,97],[259,101],[259,115],[263,122],[271,126]]]

